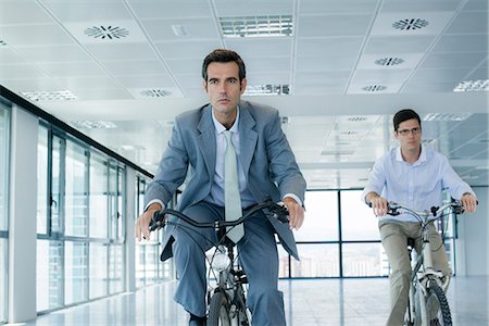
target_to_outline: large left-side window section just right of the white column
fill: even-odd
[[[38,312],[125,290],[124,175],[110,156],[39,127]]]

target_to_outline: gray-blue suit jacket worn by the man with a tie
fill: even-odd
[[[279,201],[286,193],[293,193],[303,202],[305,180],[281,130],[278,111],[247,101],[239,103],[239,160],[256,202],[266,198]],[[148,186],[146,203],[154,199],[168,203],[186,178],[188,183],[179,198],[178,210],[202,201],[210,193],[214,179],[215,156],[211,105],[179,114],[156,174]],[[269,222],[284,248],[299,259],[289,226],[274,218],[269,218]],[[162,260],[173,255],[172,242],[172,228],[167,228],[163,238]]]

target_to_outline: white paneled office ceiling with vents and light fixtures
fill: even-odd
[[[309,188],[363,187],[403,108],[487,186],[488,14],[487,0],[0,0],[0,84],[154,173],[175,115],[206,102],[202,59],[229,48],[249,90],[281,90],[244,99],[280,111]],[[228,37],[222,22],[242,20],[285,27]]]

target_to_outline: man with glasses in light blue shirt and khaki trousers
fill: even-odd
[[[450,166],[442,154],[422,143],[421,118],[411,109],[396,113],[394,137],[399,147],[380,158],[372,168],[362,199],[371,204],[379,217],[379,230],[384,249],[391,266],[391,310],[387,325],[403,325],[408,308],[411,264],[408,254],[408,238],[421,237],[421,225],[408,214],[387,215],[388,202],[406,204],[415,211],[438,206],[442,202],[442,190],[462,202],[466,212],[475,212],[477,198]],[[450,275],[447,253],[441,237],[430,226],[434,266]],[[431,321],[431,325],[439,325]]]

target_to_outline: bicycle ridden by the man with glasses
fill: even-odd
[[[443,213],[447,210],[448,213]],[[464,209],[455,201],[432,206],[429,211],[416,212],[405,205],[389,202],[389,215],[399,215],[400,211],[415,216],[422,226],[422,248],[418,254],[413,251],[414,239],[408,239],[408,250],[414,267],[411,274],[405,325],[434,325],[430,323],[436,323],[434,321],[437,319],[438,324],[435,325],[452,325],[450,306],[444,294],[450,284],[450,275],[434,269],[428,233],[429,225],[436,220],[451,212],[462,214]]]

